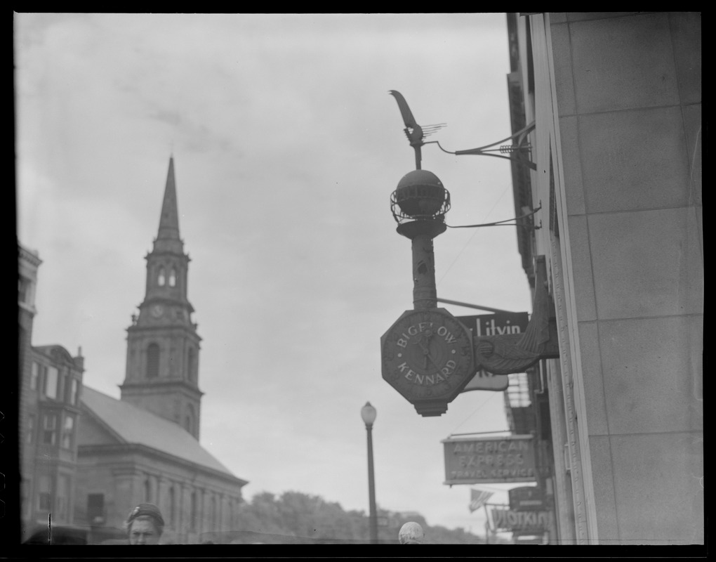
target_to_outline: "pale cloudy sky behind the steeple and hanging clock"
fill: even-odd
[[[39,252],[33,345],[82,348],[84,384],[120,397],[170,156],[188,298],[203,338],[200,442],[244,495],[319,495],[483,533],[441,440],[505,432],[503,392],[422,417],[381,376],[380,337],[412,309],[410,240],[390,194],[426,140],[460,151],[511,134],[506,16],[15,14],[19,241]],[[515,215],[500,158],[422,148],[450,226]],[[435,239],[437,296],[531,312],[513,227]],[[484,311],[441,305],[453,315]]]

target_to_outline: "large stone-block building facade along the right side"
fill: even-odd
[[[700,13],[508,19],[560,339],[559,542],[702,544]]]

